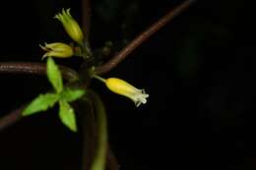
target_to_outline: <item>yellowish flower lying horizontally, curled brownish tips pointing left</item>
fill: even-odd
[[[61,43],[45,43],[45,46],[39,45],[43,50],[47,51],[43,56],[42,59],[45,57],[59,57],[59,58],[68,58],[73,55],[73,49],[71,46]]]

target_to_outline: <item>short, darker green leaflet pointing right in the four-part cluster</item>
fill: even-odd
[[[72,102],[82,97],[85,94],[84,89],[71,89],[66,88],[60,94],[60,99],[65,100],[67,102]]]

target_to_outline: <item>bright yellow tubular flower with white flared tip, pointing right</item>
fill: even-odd
[[[104,83],[111,91],[132,99],[137,107],[141,103],[145,104],[147,102],[146,98],[149,97],[144,89],[138,89],[117,78],[109,78],[104,80]]]

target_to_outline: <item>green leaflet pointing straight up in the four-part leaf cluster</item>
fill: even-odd
[[[61,73],[51,57],[47,58],[47,78],[58,93],[62,91],[63,84]]]

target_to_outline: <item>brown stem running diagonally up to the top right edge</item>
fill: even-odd
[[[120,52],[118,52],[112,59],[110,59],[105,64],[96,67],[96,74],[104,74],[115,68],[121,61],[123,61],[130,53],[132,53],[138,46],[140,46],[144,41],[146,41],[151,35],[157,32],[160,28],[165,26],[168,22],[178,16],[181,12],[187,9],[196,0],[185,0],[179,6],[170,10],[165,16],[160,18],[155,24],[150,28],[143,31],[136,38],[132,40],[126,47],[124,47]]]

